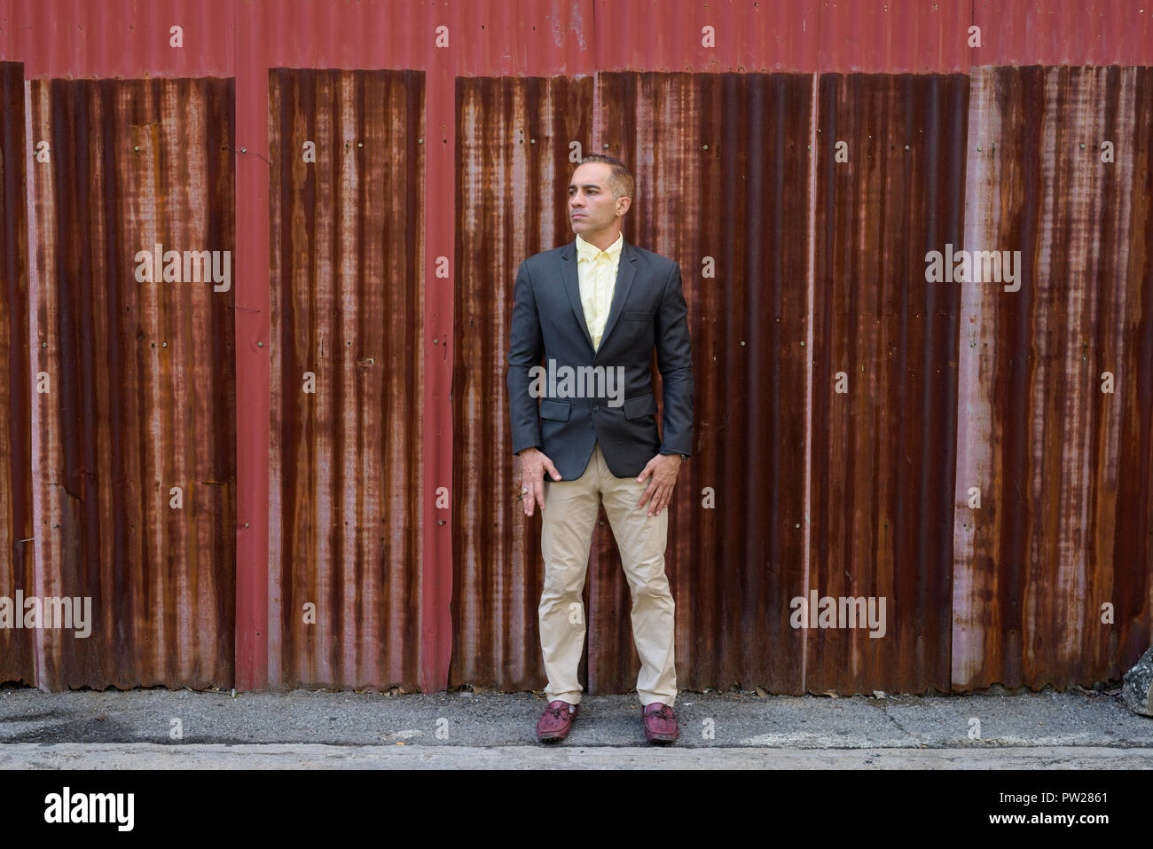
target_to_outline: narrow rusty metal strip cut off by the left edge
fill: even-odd
[[[24,68],[0,62],[0,596],[35,595]],[[7,623],[7,624],[15,624]],[[0,628],[0,682],[36,683],[35,631]]]

